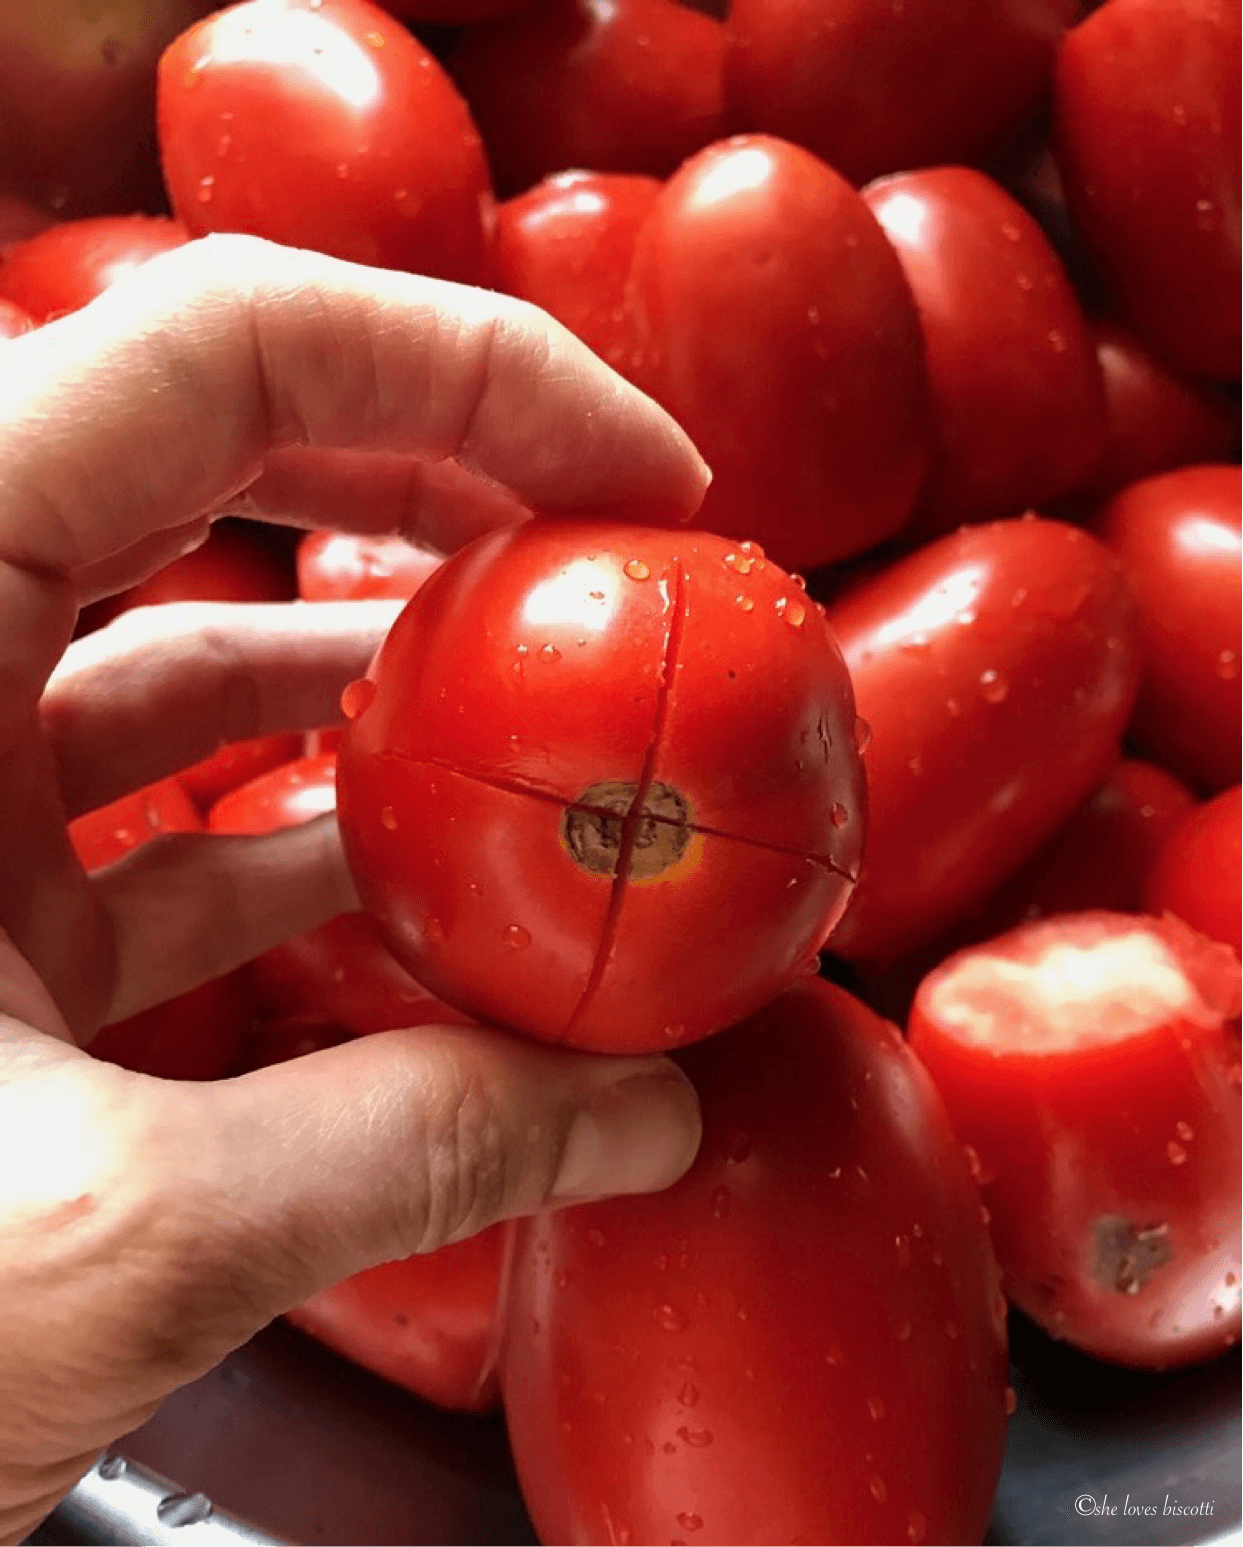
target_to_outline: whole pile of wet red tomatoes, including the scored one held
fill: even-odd
[[[91,869],[339,784],[373,911],[93,1050],[675,1050],[669,1193],[293,1320],[503,1400],[545,1541],[978,1541],[1008,1306],[1240,1338],[1240,0],[110,9],[0,19],[0,339],[252,232],[543,306],[715,480],[447,560],[223,521],[84,614],[412,599],[341,724],[73,825]]]

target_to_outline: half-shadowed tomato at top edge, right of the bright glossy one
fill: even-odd
[[[449,60],[497,187],[551,172],[664,176],[726,133],[724,29],[673,0],[543,0]]]

